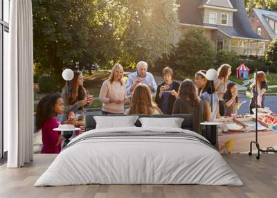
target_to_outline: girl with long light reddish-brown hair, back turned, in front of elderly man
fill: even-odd
[[[125,114],[153,115],[163,114],[159,107],[152,102],[151,91],[148,86],[141,84],[134,89],[131,104]]]

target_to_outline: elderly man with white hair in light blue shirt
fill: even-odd
[[[147,69],[148,64],[144,61],[136,64],[136,72],[131,73],[127,79],[127,95],[131,95],[136,86],[138,86],[139,84],[147,85],[152,93],[155,93],[157,91],[157,84],[154,80],[154,77],[152,73],[147,72]]]

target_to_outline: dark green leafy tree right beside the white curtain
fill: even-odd
[[[77,61],[88,46],[89,0],[34,0],[34,60],[38,71],[61,73],[62,67]]]

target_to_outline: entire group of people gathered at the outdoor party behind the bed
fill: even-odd
[[[193,114],[194,131],[201,133],[199,123],[215,121],[220,116],[233,116],[241,102],[238,100],[238,86],[229,82],[231,66],[223,64],[217,70],[218,77],[214,82],[208,80],[205,70],[195,73],[195,80],[185,79],[181,84],[174,80],[170,67],[162,71],[163,82],[157,85],[154,76],[148,72],[148,64],[139,62],[136,72],[128,75],[127,82],[123,80],[123,66],[115,64],[109,78],[102,83],[99,99],[102,102],[102,115],[111,114]],[[267,91],[266,75],[259,71],[253,84],[251,109],[265,106]],[[64,107],[69,111],[78,112],[91,101],[87,100],[87,91],[83,86],[83,76],[80,71],[74,71],[74,78],[62,89],[62,95],[55,93],[42,98],[37,105],[36,129],[42,129],[42,153],[59,153],[62,138],[53,128],[60,125],[57,114],[64,114]],[[67,87],[69,86],[69,87]],[[256,93],[256,87],[258,92]],[[68,94],[69,90],[69,95]],[[153,102],[152,96],[155,98]],[[213,100],[213,101],[212,101]],[[125,104],[129,108],[125,111]],[[68,112],[68,111],[67,111]],[[66,122],[68,115],[62,116],[61,122]]]

